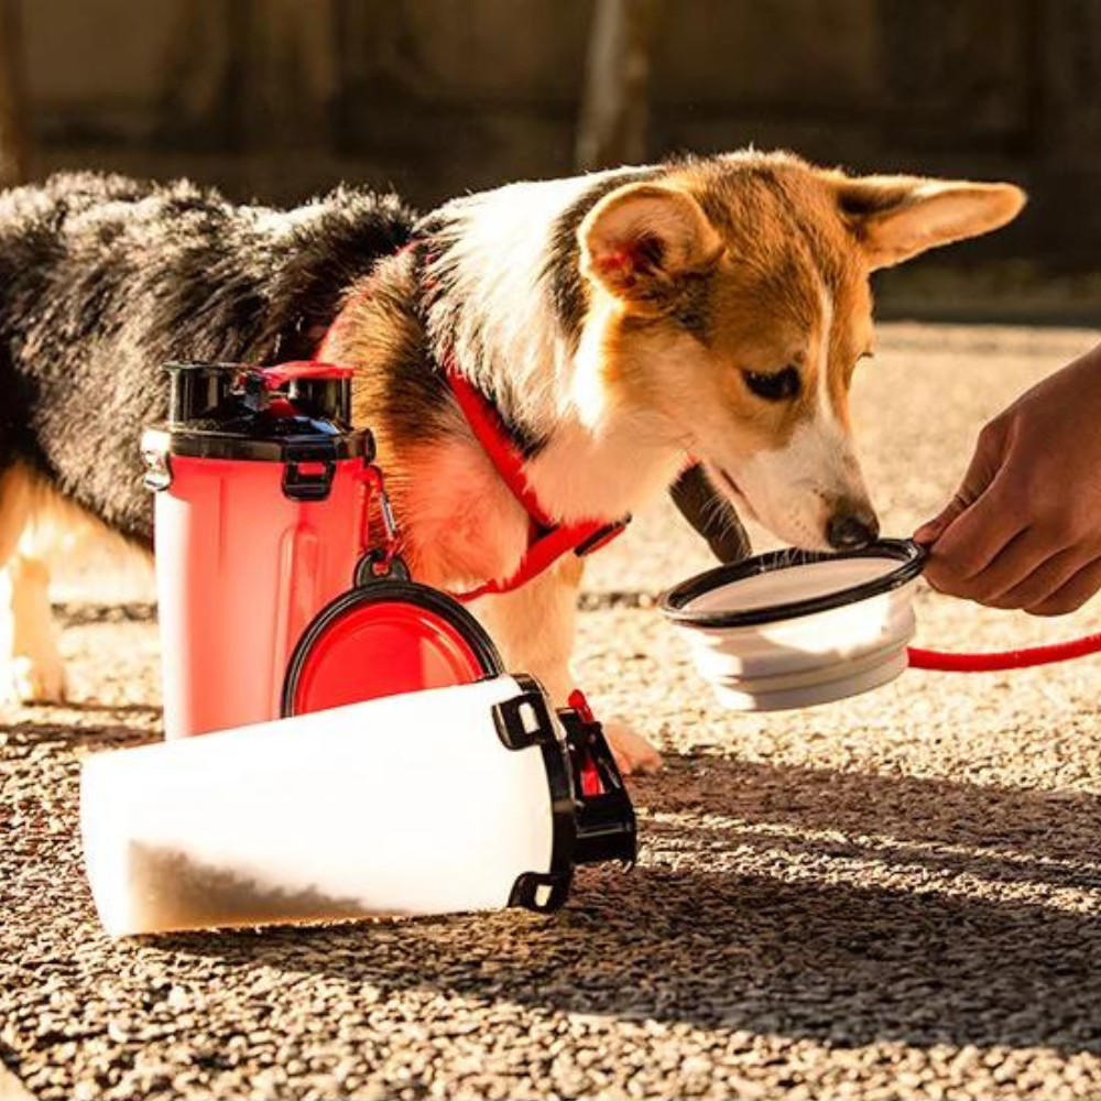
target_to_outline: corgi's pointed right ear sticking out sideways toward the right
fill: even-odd
[[[972,184],[920,176],[836,176],[838,204],[872,270],[926,249],[999,229],[1025,205],[1013,184]]]

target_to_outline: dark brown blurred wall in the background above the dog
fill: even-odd
[[[1101,0],[0,9],[0,137],[7,124],[15,148],[22,140],[22,175],[188,175],[281,203],[347,179],[428,207],[618,152],[752,142],[854,170],[1010,178],[1031,190],[1016,226],[946,260],[1024,257],[1083,271],[1101,243]],[[601,122],[617,87],[626,121]],[[586,127],[597,131],[588,145]]]

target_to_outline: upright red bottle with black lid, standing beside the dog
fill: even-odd
[[[168,421],[142,437],[155,490],[168,738],[279,718],[288,658],[353,585],[371,435],[351,370],[170,363]]]

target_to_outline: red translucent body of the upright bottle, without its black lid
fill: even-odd
[[[171,467],[154,536],[165,733],[277,718],[295,644],[352,585],[362,460],[337,464],[324,501],[285,497],[279,462],[172,456]]]

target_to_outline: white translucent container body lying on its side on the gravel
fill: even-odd
[[[89,757],[81,830],[103,926],[490,909],[564,868],[568,886],[573,781],[541,698],[498,677]]]

